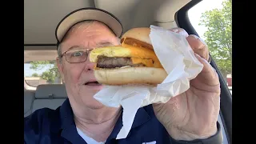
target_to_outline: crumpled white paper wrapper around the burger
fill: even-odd
[[[190,80],[202,70],[202,63],[194,56],[185,36],[158,26],[150,26],[150,40],[155,54],[168,76],[157,87],[106,86],[94,98],[106,106],[123,108],[122,129],[117,139],[126,138],[137,110],[152,103],[168,102],[190,88]]]

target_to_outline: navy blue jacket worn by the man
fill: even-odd
[[[220,126],[218,133],[213,137],[204,140],[194,140],[192,142],[175,141],[170,138],[166,129],[158,121],[154,115],[154,110],[151,105],[142,107],[138,110],[130,133],[125,139],[116,140],[116,136],[122,128],[122,116],[118,118],[118,122],[114,126],[114,130],[107,138],[106,144],[121,143],[121,144],[142,144],[143,142],[156,142],[157,144],[168,143],[207,143],[218,144],[222,143]],[[62,143],[86,143],[77,132],[74,124],[74,115],[70,107],[68,98],[56,110],[43,108],[34,111],[28,117],[24,118],[24,143],[34,144],[62,144]]]

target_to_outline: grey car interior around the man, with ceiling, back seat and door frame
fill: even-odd
[[[55,28],[73,10],[97,7],[114,14],[123,32],[139,26],[181,27],[188,34],[198,35],[187,11],[200,0],[24,0],[24,63],[55,60]],[[218,71],[214,60],[210,63]],[[221,110],[218,122],[222,126],[223,143],[232,143],[232,97],[221,74]],[[56,109],[67,98],[65,84],[30,86],[24,77],[24,117],[43,107]]]

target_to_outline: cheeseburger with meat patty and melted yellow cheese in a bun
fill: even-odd
[[[94,75],[105,85],[156,86],[166,78],[153,46],[150,28],[128,30],[122,35],[121,45],[105,46],[90,52],[90,62],[95,62]]]

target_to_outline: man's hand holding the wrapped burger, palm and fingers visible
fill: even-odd
[[[203,69],[190,81],[190,89],[164,104],[154,104],[154,113],[176,140],[204,139],[216,134],[220,108],[218,74],[209,62],[209,50],[200,38],[183,29],[172,30],[186,36]]]

